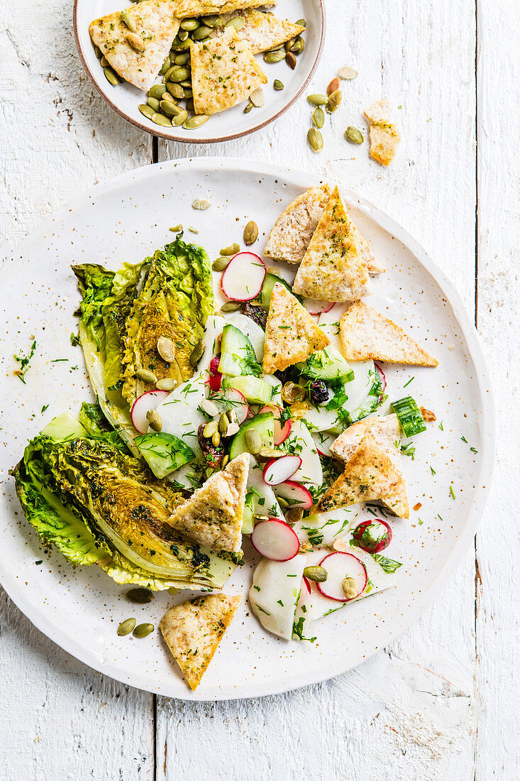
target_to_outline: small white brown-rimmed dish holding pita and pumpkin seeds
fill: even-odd
[[[305,90],[312,77],[322,53],[325,36],[325,12],[322,0],[280,0],[273,12],[284,19],[296,21],[305,19],[307,27],[302,37],[305,38],[305,48],[297,55],[297,65],[294,70],[284,61],[269,65],[256,55],[262,66],[268,83],[263,86],[265,104],[262,108],[252,109],[244,114],[245,103],[236,105],[233,109],[214,114],[208,122],[196,130],[185,130],[183,127],[166,127],[155,125],[139,111],[139,104],[146,103],[147,93],[138,90],[131,84],[119,84],[113,87],[105,78],[88,34],[88,26],[92,20],[108,13],[123,9],[128,2],[125,0],[74,0],[74,34],[78,52],[92,84],[105,98],[105,101],[128,122],[146,130],[155,136],[169,138],[172,141],[186,141],[191,144],[212,144],[216,141],[229,141],[269,125],[274,119],[286,112],[290,105]],[[237,12],[238,13],[238,12]],[[157,83],[162,77],[158,77]],[[280,79],[285,88],[276,91],[272,82]]]

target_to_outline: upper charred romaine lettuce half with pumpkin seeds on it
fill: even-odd
[[[186,244],[182,234],[151,258],[117,272],[102,266],[73,266],[83,296],[80,345],[88,373],[109,422],[134,455],[137,432],[130,420],[134,401],[155,383],[137,374],[178,385],[194,373],[191,356],[213,312],[212,272],[205,250]],[[175,347],[173,361],[157,351],[160,337]]]

